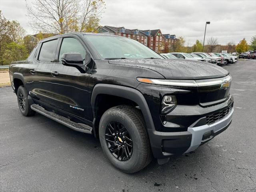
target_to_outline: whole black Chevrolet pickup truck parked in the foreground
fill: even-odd
[[[232,121],[231,76],[219,66],[167,60],[129,38],[63,34],[10,65],[24,116],[43,114],[99,137],[126,173],[185,154]]]

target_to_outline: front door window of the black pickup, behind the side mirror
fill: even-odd
[[[82,44],[75,38],[67,37],[63,38],[62,44],[60,47],[60,54],[59,54],[59,62],[61,62],[60,58],[64,53],[72,53],[78,52],[82,54],[83,59],[85,59],[86,51]]]

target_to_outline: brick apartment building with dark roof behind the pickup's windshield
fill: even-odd
[[[124,27],[99,26],[98,32],[132,38],[148,46],[156,52],[164,50],[165,44],[168,44],[167,46],[170,47],[170,44],[174,43],[174,41],[176,40],[175,35],[162,34],[160,29],[139,30],[126,29]]]

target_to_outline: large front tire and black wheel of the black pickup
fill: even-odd
[[[123,130],[126,131],[122,134]],[[114,135],[111,132],[113,132]],[[117,136],[117,134],[119,136]],[[142,113],[137,108],[120,105],[108,109],[100,119],[99,136],[104,154],[116,168],[125,173],[131,174],[138,172],[146,167],[152,160],[145,121]],[[116,136],[117,138],[115,138]],[[128,146],[125,145],[125,143],[128,144],[129,142],[127,137],[132,140],[132,142],[129,143],[132,145],[132,148],[128,148]],[[123,140],[120,141],[120,138]],[[113,145],[114,147],[112,147]],[[115,154],[113,151],[115,151],[116,148],[117,152]],[[126,153],[126,149],[128,153],[130,151],[132,152],[131,154],[129,153],[130,156],[126,155],[128,154]],[[112,150],[112,152],[110,152],[110,150]],[[123,151],[124,155],[122,153]],[[121,157],[118,157],[118,153],[121,154]]]

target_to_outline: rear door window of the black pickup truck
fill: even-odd
[[[57,45],[58,39],[44,42],[42,44],[38,60],[40,62],[55,62],[54,57]]]

